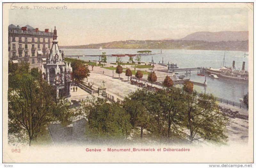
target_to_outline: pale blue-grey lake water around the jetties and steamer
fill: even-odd
[[[136,54],[137,51],[148,49],[63,49],[65,55],[100,55],[102,52],[106,52],[107,55],[111,54]],[[158,53],[155,55],[141,56],[141,62],[151,62],[152,57],[155,63],[177,63],[179,68],[192,68],[192,67],[212,67],[220,68],[223,65],[224,51],[212,51],[212,50],[162,50],[152,49],[152,53]],[[226,51],[225,60],[227,67],[232,66],[233,60],[235,60],[236,69],[242,69],[242,63],[245,61],[245,70],[248,70],[248,52],[244,51]],[[99,60],[99,57],[79,57],[81,60]],[[122,57],[123,62],[127,62],[129,57]],[[108,57],[108,62],[115,62],[116,57]],[[179,72],[179,75],[186,72]],[[190,75],[185,75],[185,79],[191,81],[204,82],[203,76],[198,76],[197,71],[191,71]],[[229,79],[213,79],[206,76],[207,87],[196,86],[194,88],[198,92],[212,93],[216,97],[228,99],[231,101],[239,102],[240,98],[248,92],[248,82],[235,81]]]

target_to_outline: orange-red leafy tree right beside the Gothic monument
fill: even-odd
[[[74,68],[74,78],[78,81],[84,80],[90,76],[90,71],[87,65],[79,64]]]

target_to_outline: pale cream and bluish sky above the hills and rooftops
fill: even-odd
[[[180,39],[207,31],[248,31],[247,8],[9,10],[9,24],[56,26],[60,46]]]

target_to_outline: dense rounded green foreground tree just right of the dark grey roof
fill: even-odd
[[[132,129],[130,116],[120,104],[107,103],[106,99],[98,98],[95,102],[87,104],[86,110],[88,132],[92,138],[127,138],[130,135]]]

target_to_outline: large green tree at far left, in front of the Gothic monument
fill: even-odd
[[[55,90],[42,80],[36,68],[31,71],[21,64],[15,73],[9,74],[8,87],[8,134],[25,132],[29,146],[50,122],[70,122],[67,104],[55,99]]]

